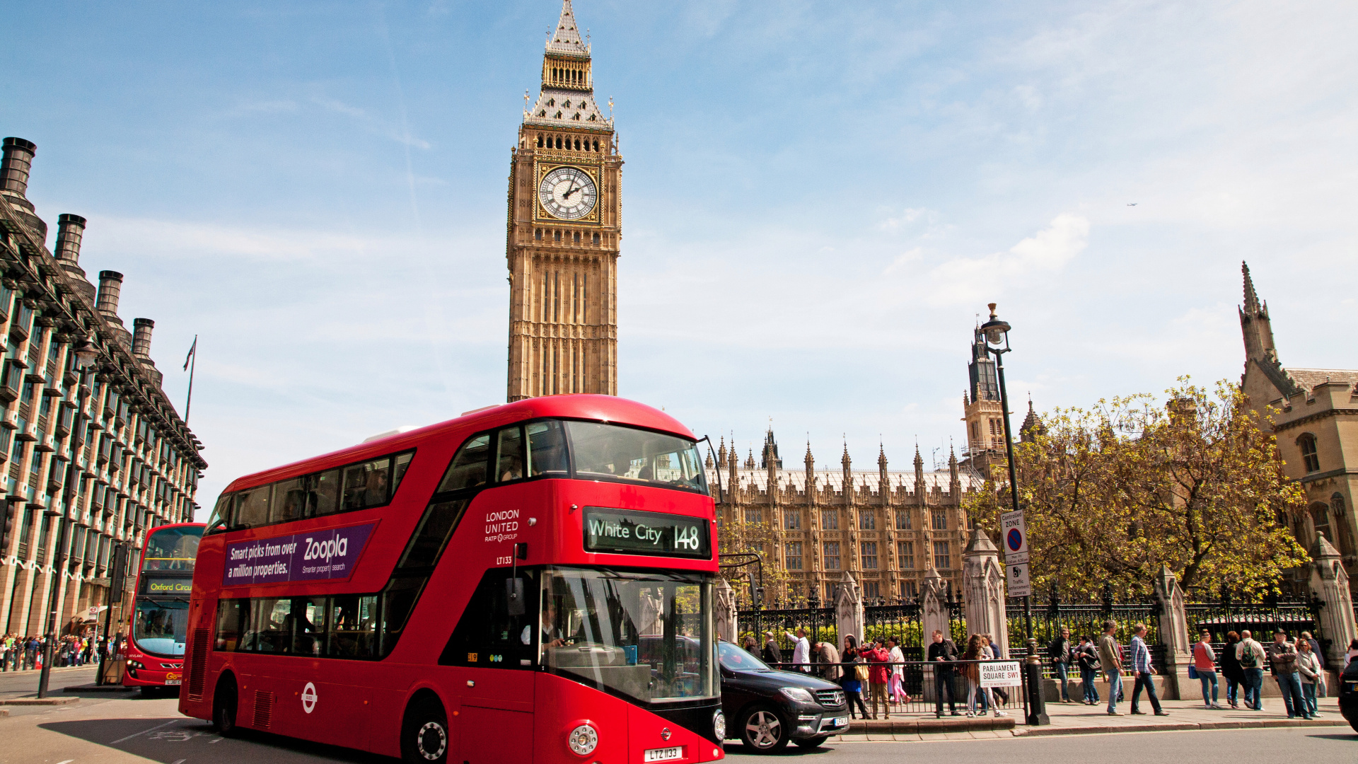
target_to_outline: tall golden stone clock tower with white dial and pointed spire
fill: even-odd
[[[612,117],[595,103],[589,45],[564,0],[509,162],[509,401],[618,394],[621,178]]]

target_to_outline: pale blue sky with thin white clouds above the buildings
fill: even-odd
[[[554,0],[29,3],[29,198],[234,477],[504,400],[505,178]],[[577,0],[623,173],[619,392],[744,451],[964,442],[975,315],[1039,409],[1353,367],[1358,5]],[[1128,204],[1135,203],[1135,207]],[[1339,341],[1335,341],[1339,340]]]

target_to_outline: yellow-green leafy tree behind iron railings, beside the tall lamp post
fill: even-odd
[[[1304,492],[1238,386],[1180,378],[1167,394],[1164,406],[1141,394],[1057,409],[1014,446],[1036,589],[1145,594],[1165,564],[1186,590],[1258,591],[1306,561],[1287,522]],[[986,488],[968,511],[995,529],[1008,481]]]

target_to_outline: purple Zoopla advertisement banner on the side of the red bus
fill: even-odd
[[[227,545],[223,586],[349,578],[376,522]]]

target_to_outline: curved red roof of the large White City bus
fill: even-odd
[[[338,451],[322,454],[319,457],[311,457],[308,459],[296,461],[288,465],[266,469],[263,472],[246,474],[232,480],[231,484],[225,487],[223,493],[353,464],[363,461],[367,457],[378,457],[392,451],[401,451],[405,447],[413,447],[430,436],[455,434],[470,435],[473,432],[492,430],[502,424],[538,417],[614,421],[618,424],[659,430],[661,432],[672,432],[684,438],[694,438],[694,434],[678,419],[645,404],[629,401],[627,398],[591,394],[545,396],[540,398],[527,398],[512,404],[478,409],[456,419],[449,419],[447,421],[440,421],[418,430],[410,430],[409,432],[394,434],[379,440],[359,443],[356,446],[340,449]]]

